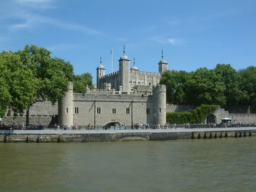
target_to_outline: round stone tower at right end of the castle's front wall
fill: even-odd
[[[166,86],[153,86],[153,122],[164,125],[166,123]],[[155,115],[154,115],[155,114]],[[154,117],[155,116],[155,117]]]

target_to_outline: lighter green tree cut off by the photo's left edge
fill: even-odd
[[[0,53],[0,115],[22,114],[34,100],[38,81],[15,52]]]

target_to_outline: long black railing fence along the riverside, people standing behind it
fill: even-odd
[[[125,130],[125,129],[198,129],[198,128],[228,128],[228,127],[255,127],[256,123],[246,124],[176,124],[176,125],[161,125],[161,126],[1,126],[0,129],[4,130]]]

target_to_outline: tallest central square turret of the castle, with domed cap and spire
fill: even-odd
[[[129,89],[129,80],[130,80],[130,59],[125,55],[125,45],[124,45],[124,54],[119,59],[119,86],[122,86],[122,90],[130,92]]]

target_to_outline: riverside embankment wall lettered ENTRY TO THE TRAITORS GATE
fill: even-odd
[[[116,130],[106,132],[0,132],[0,142],[27,143],[69,143],[69,142],[105,142],[122,140],[178,140],[178,139],[211,139],[211,138],[241,138],[256,136],[255,128],[220,130],[220,129],[172,129],[172,130]]]

